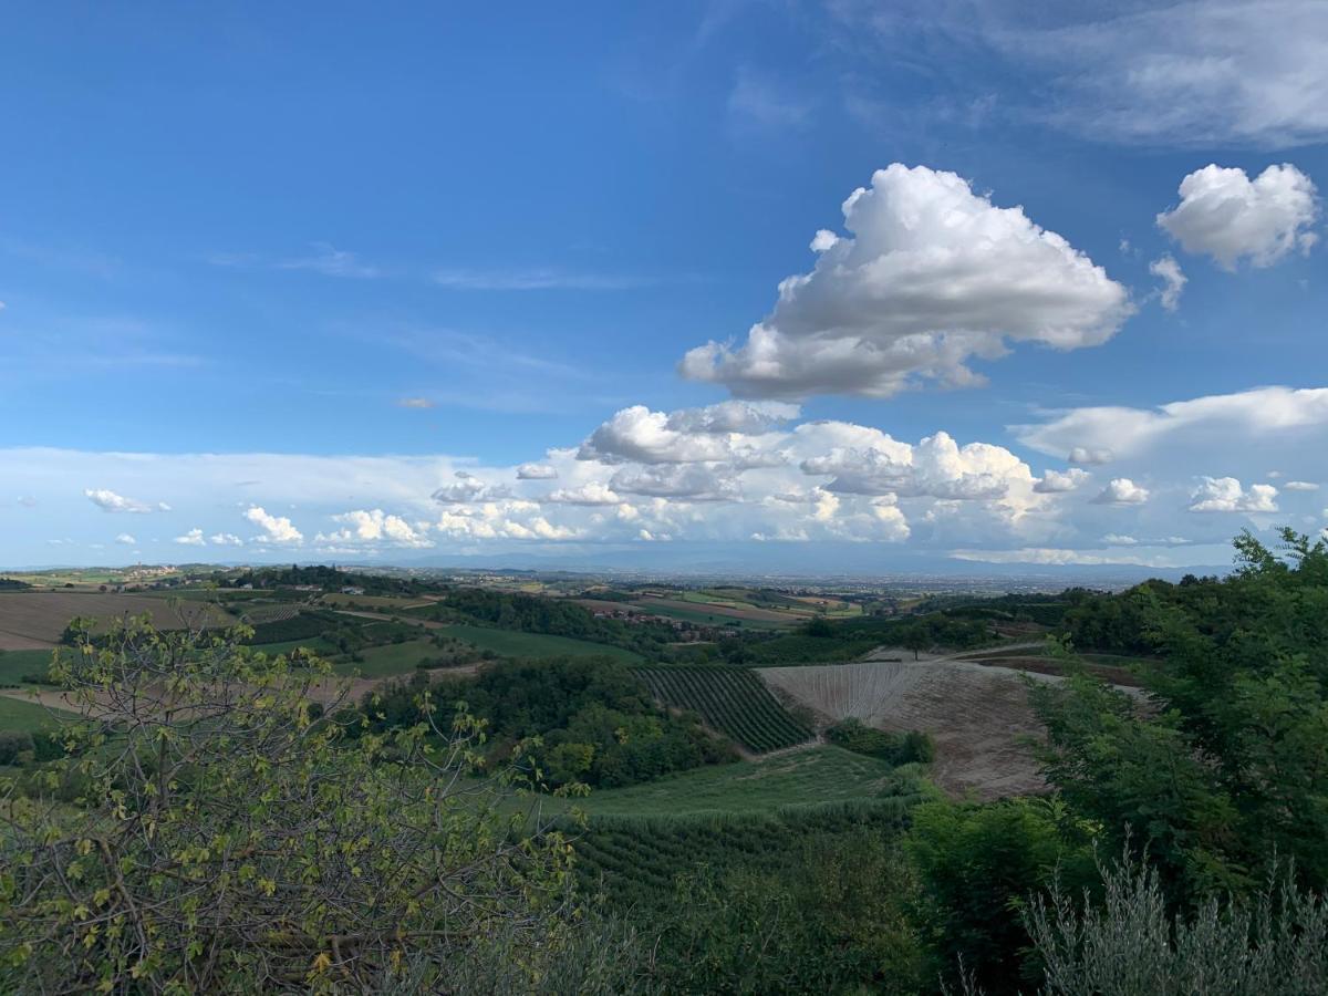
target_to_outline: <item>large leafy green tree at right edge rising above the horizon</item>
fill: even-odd
[[[1086,676],[1036,689],[1064,798],[1129,831],[1181,896],[1247,891],[1274,857],[1328,886],[1328,546],[1283,539],[1240,537],[1222,580],[1102,599],[1158,655],[1139,669],[1150,708]]]

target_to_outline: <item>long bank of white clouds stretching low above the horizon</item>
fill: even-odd
[[[170,531],[141,544],[145,552],[197,547],[218,556],[240,542],[224,530],[243,518],[258,527],[244,537],[246,555],[259,560],[292,551],[756,539],[811,544],[809,570],[837,556],[815,544],[904,542],[934,556],[1084,564],[1121,563],[1127,546],[1130,556],[1159,564],[1211,566],[1228,556],[1231,515],[1256,529],[1323,527],[1313,485],[1325,478],[1328,388],[1085,408],[1013,433],[1049,459],[1035,470],[995,442],[940,430],[904,441],[870,425],[797,421],[791,406],[730,401],[624,408],[580,445],[523,454],[539,458],[535,475],[517,462],[445,456],[0,450],[0,478],[39,494],[39,510],[61,502],[86,510],[86,533],[62,542],[89,547],[116,535],[104,515],[88,514],[89,477],[130,494],[162,494],[174,482],[181,507],[162,513]],[[1102,461],[1109,474],[1094,466]],[[226,518],[205,518],[218,509]],[[308,538],[268,509],[299,509]]]

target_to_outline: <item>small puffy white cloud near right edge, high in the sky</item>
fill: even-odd
[[[1242,259],[1268,267],[1291,252],[1308,252],[1319,240],[1311,231],[1317,218],[1313,182],[1286,163],[1254,179],[1244,170],[1216,165],[1195,170],[1181,181],[1181,203],[1157,220],[1186,252],[1235,270]]]

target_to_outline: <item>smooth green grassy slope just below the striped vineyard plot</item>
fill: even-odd
[[[786,805],[894,794],[892,772],[886,761],[823,744],[758,761],[697,768],[625,789],[600,789],[568,805],[591,817],[770,813]]]

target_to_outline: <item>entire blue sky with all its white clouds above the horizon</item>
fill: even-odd
[[[12,8],[0,563],[1317,531],[1328,15],[1024,7]]]

